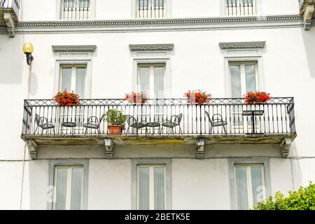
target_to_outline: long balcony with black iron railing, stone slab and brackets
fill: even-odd
[[[103,116],[109,110],[127,116],[121,134],[109,133]],[[82,99],[76,107],[34,99],[25,100],[22,122],[21,137],[32,158],[45,145],[104,145],[111,156],[113,146],[129,144],[196,145],[198,158],[207,144],[279,144],[286,157],[296,137],[290,97],[272,98],[260,105],[244,105],[243,99],[211,99],[207,105],[189,105],[187,99],[148,99],[145,104]],[[141,123],[138,132],[134,123]],[[175,125],[171,128],[169,124]]]

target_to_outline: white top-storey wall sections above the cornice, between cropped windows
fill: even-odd
[[[60,0],[28,0],[22,2],[22,13],[20,20],[59,20],[57,10],[59,10]],[[134,18],[134,2],[136,0],[94,0],[95,7],[92,8],[95,20],[115,20]],[[298,14],[298,1],[295,0],[256,0],[257,15],[282,15]],[[171,0],[172,18],[195,18],[195,17],[220,17],[224,16],[223,0],[195,0],[182,1]]]

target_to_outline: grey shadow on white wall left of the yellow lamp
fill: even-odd
[[[15,35],[10,38],[8,35],[0,37],[0,85],[22,84],[22,71],[25,63],[25,55],[22,51],[25,38],[22,35]]]

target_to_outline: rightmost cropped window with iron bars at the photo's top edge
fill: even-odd
[[[255,15],[255,0],[225,0],[225,15]]]

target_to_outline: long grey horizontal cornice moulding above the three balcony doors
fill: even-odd
[[[303,27],[301,15],[18,22],[17,34]],[[3,27],[0,23],[0,28]],[[1,32],[1,31],[0,31]]]

